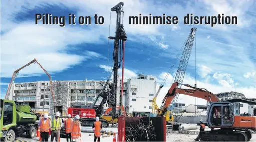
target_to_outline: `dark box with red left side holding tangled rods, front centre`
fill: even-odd
[[[166,142],[165,117],[118,117],[118,142],[127,141]]]

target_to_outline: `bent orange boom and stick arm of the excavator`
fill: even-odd
[[[201,89],[201,88],[196,88],[192,87],[188,84],[184,84],[184,86],[192,88],[192,89],[181,89],[178,88],[178,82],[174,82],[168,93],[165,95],[163,99],[163,104],[160,107],[160,109],[157,112],[158,117],[163,117],[164,114],[166,113],[169,105],[171,104],[173,98],[176,96],[176,94],[184,94],[192,97],[197,97],[204,99],[208,102],[219,102],[219,99],[217,98],[216,95],[212,94],[211,92],[207,91],[206,89]]]

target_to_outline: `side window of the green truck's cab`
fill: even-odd
[[[1,113],[2,113],[2,110],[1,110]],[[13,103],[5,103],[3,125],[5,126],[12,123],[13,123]]]

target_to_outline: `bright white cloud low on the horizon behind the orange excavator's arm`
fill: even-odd
[[[165,77],[166,73],[161,73],[158,78],[163,80]],[[221,75],[218,75],[218,77]],[[222,75],[223,76],[223,75]],[[169,78],[166,81],[165,86],[161,89],[158,98],[157,98],[157,105],[160,106],[162,104],[162,99],[164,98],[164,96],[166,95],[166,93],[168,92],[171,83],[172,83],[172,75],[169,75]],[[223,77],[219,77],[220,79]],[[217,78],[217,79],[219,79]],[[190,77],[189,75],[185,75],[184,80],[183,80],[183,84],[189,84],[191,86],[194,86],[195,84],[195,80],[194,78]],[[208,91],[216,94],[216,93],[221,93],[221,92],[230,92],[230,91],[235,91],[235,92],[239,92],[245,95],[245,97],[248,98],[255,98],[254,94],[251,92],[256,92],[256,87],[239,87],[237,86],[238,84],[234,84],[235,86],[226,86],[223,84],[210,84],[204,81],[197,81],[197,87],[198,88],[204,88],[207,89]],[[158,90],[159,85],[157,85],[156,90]],[[187,87],[183,87],[182,88],[187,88]],[[178,103],[185,103],[186,105],[189,104],[195,104],[195,99],[196,99],[196,104],[197,105],[206,105],[206,101],[200,98],[195,98],[195,97],[191,97],[191,96],[187,96],[187,95],[179,95],[179,99],[178,99]]]

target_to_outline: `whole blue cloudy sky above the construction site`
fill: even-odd
[[[124,28],[128,36],[125,48],[125,77],[137,74],[165,77],[174,68],[157,99],[166,94],[178,62],[175,57],[190,29],[197,27],[183,83],[213,93],[236,91],[255,97],[255,19],[256,2],[252,0],[122,0]],[[110,8],[119,0],[9,0],[1,1],[1,97],[6,94],[14,70],[36,58],[53,80],[104,80],[107,66],[113,65],[113,40],[108,56]],[[36,13],[66,16],[66,26],[35,24]],[[68,25],[68,15],[76,15],[76,25]],[[178,16],[178,25],[129,25],[129,16]],[[187,13],[198,16],[237,16],[237,25],[184,25]],[[79,25],[79,16],[104,16],[103,25]],[[110,35],[114,36],[116,13],[111,13]],[[93,21],[94,22],[94,21]],[[195,45],[196,69],[195,73]],[[15,82],[48,80],[44,71],[32,64]],[[179,102],[191,104],[192,97],[180,95]],[[194,101],[193,101],[194,102]],[[197,104],[205,104],[197,99]]]

